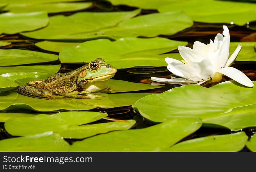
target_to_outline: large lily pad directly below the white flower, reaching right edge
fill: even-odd
[[[251,106],[248,106],[256,103],[255,92],[255,86],[253,88],[243,87],[235,81],[219,83],[211,88],[186,85],[144,97],[138,100],[133,107],[151,121],[164,122],[174,117],[194,117],[202,118],[203,122],[239,129],[250,125],[256,126],[248,119],[249,114],[255,114],[255,111],[250,109]],[[243,120],[226,117],[226,115],[235,114],[236,110],[232,111],[237,107],[246,109],[244,113],[247,115]],[[214,119],[217,117],[218,120]]]

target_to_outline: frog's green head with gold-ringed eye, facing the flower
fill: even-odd
[[[86,70],[83,70],[79,73],[77,78],[77,84],[81,88],[88,87],[88,84],[91,81],[102,81],[97,85],[106,85],[107,80],[112,78],[116,73],[116,68],[106,64],[102,58],[97,58],[95,61],[90,62],[87,66],[85,66],[85,69]]]

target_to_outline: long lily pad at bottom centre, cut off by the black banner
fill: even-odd
[[[160,151],[193,133],[201,125],[201,119],[177,118],[144,129],[113,131],[90,137],[74,142],[69,151]]]

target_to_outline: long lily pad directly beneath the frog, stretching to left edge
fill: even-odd
[[[0,110],[3,109],[30,109],[36,111],[57,111],[66,110],[89,110],[97,107],[113,108],[129,106],[149,93],[123,93],[123,94],[104,94],[97,99],[69,99],[69,100],[45,100],[32,98],[11,92],[0,99]],[[1,94],[0,94],[1,96]],[[17,98],[16,98],[16,97]],[[15,100],[14,100],[14,99]],[[6,103],[7,102],[7,103]],[[54,105],[54,106],[53,106]]]

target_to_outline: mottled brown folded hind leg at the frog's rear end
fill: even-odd
[[[37,89],[33,86],[26,86],[26,85],[20,86],[19,89],[18,89],[18,92],[20,94],[25,95],[25,96],[31,95],[31,96],[43,97],[43,98],[47,98],[47,97],[50,97],[52,95],[51,92],[49,92],[45,89]]]

